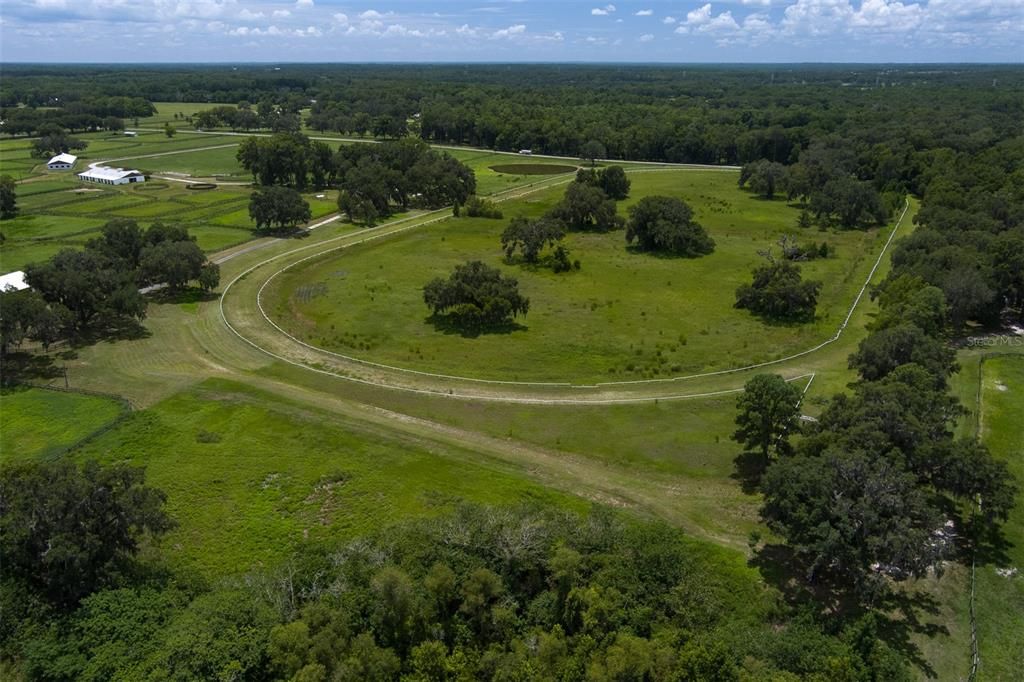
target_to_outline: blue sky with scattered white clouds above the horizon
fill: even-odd
[[[1024,61],[1024,0],[3,0],[4,61]]]

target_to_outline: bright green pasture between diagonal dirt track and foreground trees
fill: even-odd
[[[130,462],[168,495],[173,562],[209,577],[280,563],[460,501],[559,502],[511,468],[210,380],[75,453]]]

